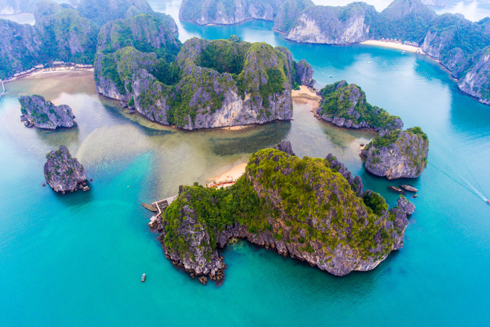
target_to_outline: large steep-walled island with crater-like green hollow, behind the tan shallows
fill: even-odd
[[[100,48],[104,40],[99,37]],[[306,61],[295,63],[289,50],[241,42],[236,37],[188,40],[175,62],[129,58],[134,64],[123,65],[128,60],[118,54],[122,50],[114,55],[98,52],[99,92],[128,101],[153,121],[184,129],[289,120],[293,83],[314,83],[311,66]],[[111,66],[114,71],[107,69]]]

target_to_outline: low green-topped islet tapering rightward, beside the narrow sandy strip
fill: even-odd
[[[325,86],[318,95],[321,96],[318,117],[334,125],[372,128],[378,132],[403,127],[400,117],[391,116],[386,110],[370,105],[366,94],[356,84],[339,81]]]

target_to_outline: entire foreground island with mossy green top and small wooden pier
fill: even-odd
[[[343,276],[373,269],[402,247],[414,207],[402,197],[397,204],[388,211],[377,193],[357,196],[327,160],[267,149],[229,189],[180,187],[154,227],[165,256],[192,277],[221,281],[226,265],[217,249],[232,237]]]

